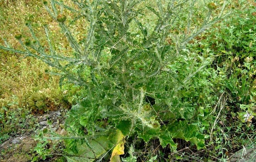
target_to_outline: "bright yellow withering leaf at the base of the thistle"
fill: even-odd
[[[124,154],[124,135],[122,134],[122,132],[120,130],[117,130],[117,138],[118,138],[118,142],[116,147],[113,149],[111,158],[110,158],[110,162],[121,162],[120,156]]]

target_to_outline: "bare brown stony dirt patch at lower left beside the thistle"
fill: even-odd
[[[63,129],[62,125],[65,121],[66,111],[67,110],[60,109],[49,111],[43,115],[35,115],[34,117],[38,119],[34,125],[37,131],[27,130],[26,132],[15,134],[8,140],[3,141],[0,145],[0,162],[30,162],[33,157],[38,156],[37,152],[34,151],[34,148],[39,142],[35,140],[35,135],[43,129],[49,128],[47,120],[52,121],[51,127],[55,133],[65,135],[66,131]],[[39,157],[39,161],[53,162],[57,158],[58,156],[53,156],[52,158],[42,160],[41,157]]]

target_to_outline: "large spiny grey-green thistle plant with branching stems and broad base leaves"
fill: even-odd
[[[67,160],[106,157],[108,150],[113,151],[123,141],[111,138],[121,136],[142,138],[146,143],[158,138],[162,147],[169,144],[173,149],[176,144],[172,138],[181,138],[203,148],[204,135],[190,123],[196,110],[193,103],[182,98],[189,82],[211,64],[213,57],[190,53],[186,44],[227,17],[231,13],[225,10],[227,3],[219,6],[220,12],[214,16],[216,4],[205,4],[208,13],[203,22],[193,22],[196,0],[168,0],[164,4],[160,0],[156,4],[141,0],[73,2],[76,8],[62,1],[43,1],[65,34],[71,54],[56,52],[47,25],[44,30],[48,43],[42,45],[31,22],[27,27],[32,38],[24,41],[22,35],[15,36],[23,51],[8,44],[0,46],[55,67],[60,86],[71,83],[83,88],[83,96],[73,105],[66,121],[70,133],[65,138]],[[76,15],[70,24],[65,12]],[[182,16],[186,19],[180,29]],[[78,19],[89,23],[84,26],[87,33],[81,41],[69,28]]]

